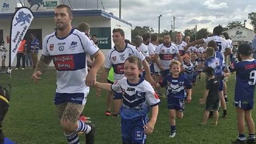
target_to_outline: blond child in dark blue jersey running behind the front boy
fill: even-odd
[[[191,88],[192,85],[183,74],[180,74],[181,63],[179,61],[172,61],[170,64],[171,74],[165,76],[158,84],[158,87],[166,87],[167,89],[167,105],[170,113],[171,134],[169,137],[173,138],[176,135],[175,118],[183,118],[183,111],[185,106],[185,97],[187,89],[187,102],[191,102]]]

